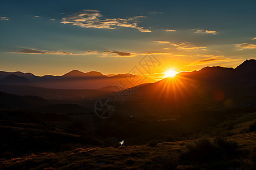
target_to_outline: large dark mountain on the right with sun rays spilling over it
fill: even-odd
[[[236,69],[217,66],[179,73],[138,86],[126,101],[127,108],[152,114],[255,109],[255,71],[255,59],[250,59]]]

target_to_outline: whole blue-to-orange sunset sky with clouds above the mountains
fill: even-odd
[[[63,75],[136,68],[160,79],[167,70],[236,67],[256,58],[255,7],[256,1],[223,0],[0,0],[0,70]]]

